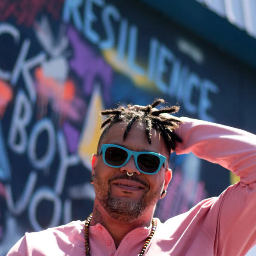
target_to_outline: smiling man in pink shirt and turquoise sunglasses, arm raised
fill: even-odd
[[[109,118],[92,156],[92,216],[26,233],[7,255],[246,254],[256,243],[256,135],[175,118],[166,113],[177,107],[157,110],[161,102],[103,111]],[[153,214],[171,180],[171,150],[218,163],[241,181],[161,223]]]

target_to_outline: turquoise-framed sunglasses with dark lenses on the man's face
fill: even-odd
[[[155,152],[137,152],[114,144],[103,144],[99,155],[101,153],[104,163],[110,167],[124,166],[131,156],[134,156],[135,165],[141,173],[155,174],[163,164],[166,167],[166,157]]]

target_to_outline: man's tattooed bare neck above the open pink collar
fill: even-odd
[[[95,199],[92,213],[93,215],[90,225],[93,226],[97,223],[103,225],[113,238],[117,248],[130,231],[139,227],[149,227],[154,211],[147,212],[132,222],[121,222],[112,218],[101,206],[100,202]]]

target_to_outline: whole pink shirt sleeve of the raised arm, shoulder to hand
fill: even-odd
[[[182,117],[183,142],[177,154],[193,152],[232,171],[240,182],[211,205],[204,228],[214,239],[214,255],[245,255],[256,244],[256,135],[207,121]]]

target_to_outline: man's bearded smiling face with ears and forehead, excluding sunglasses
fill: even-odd
[[[144,125],[134,123],[126,140],[123,133],[127,124],[114,124],[102,140],[102,144],[116,144],[133,151],[160,153],[168,158],[163,138],[152,129],[152,143],[149,145]],[[146,211],[154,211],[161,192],[166,189],[171,171],[161,167],[154,175],[140,173],[133,156],[126,165],[114,168],[104,164],[102,154],[94,156],[92,174],[95,174],[94,188],[97,199],[110,216],[119,221],[133,221]],[[126,174],[133,173],[132,176]]]

